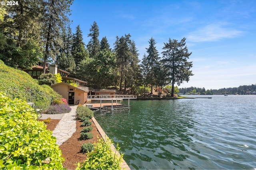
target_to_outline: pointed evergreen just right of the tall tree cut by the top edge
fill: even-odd
[[[80,29],[80,25],[78,25],[76,27],[76,33],[74,35],[74,42],[72,45],[72,56],[74,57],[77,66],[82,60],[89,57],[89,53],[84,46],[82,31]]]

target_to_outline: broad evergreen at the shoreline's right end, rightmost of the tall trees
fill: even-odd
[[[178,86],[183,82],[189,81],[189,77],[192,76],[192,62],[188,62],[189,56],[192,53],[188,52],[186,46],[186,38],[183,38],[180,42],[176,39],[169,39],[168,43],[164,43],[162,52],[162,63],[166,71],[167,83],[172,83],[172,93],[174,96],[174,83]]]

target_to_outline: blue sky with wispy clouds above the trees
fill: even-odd
[[[96,21],[112,49],[130,33],[139,59],[151,37],[160,57],[169,38],[186,37],[194,76],[179,88],[256,84],[256,0],[74,0],[71,10],[72,31],[80,25],[85,44]]]

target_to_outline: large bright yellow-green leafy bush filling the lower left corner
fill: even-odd
[[[0,92],[0,169],[63,169],[56,137],[34,109]]]

